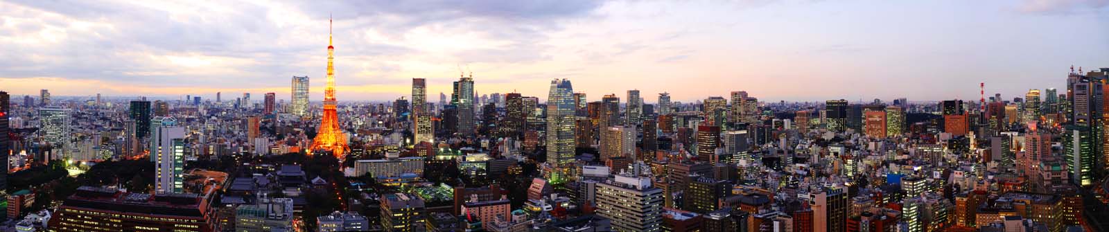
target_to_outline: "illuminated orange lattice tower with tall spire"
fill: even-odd
[[[335,47],[332,46],[330,22],[327,29],[327,89],[324,89],[324,118],[319,120],[319,130],[312,141],[312,151],[332,151],[343,160],[347,150],[346,135],[339,129],[339,118],[335,112]]]

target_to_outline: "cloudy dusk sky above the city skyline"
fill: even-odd
[[[746,91],[762,101],[1003,98],[1109,68],[1109,0],[41,1],[0,0],[0,90],[214,99],[312,79],[328,19],[337,98],[477,92],[590,101]]]

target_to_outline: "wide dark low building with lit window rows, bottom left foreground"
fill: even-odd
[[[49,228],[58,232],[215,232],[213,195],[216,193],[151,195],[81,186],[53,211]]]

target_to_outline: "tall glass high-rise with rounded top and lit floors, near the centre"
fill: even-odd
[[[547,97],[547,163],[573,162],[574,99],[570,80],[552,80]]]

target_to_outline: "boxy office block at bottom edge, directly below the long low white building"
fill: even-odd
[[[419,195],[389,193],[381,198],[381,226],[386,231],[426,231],[427,208]]]

